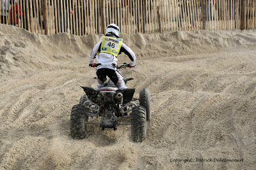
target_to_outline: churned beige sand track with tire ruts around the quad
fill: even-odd
[[[255,169],[256,31],[122,34],[138,59],[127,86],[151,93],[142,143],[129,125],[70,137],[100,36],[0,25],[0,169]]]

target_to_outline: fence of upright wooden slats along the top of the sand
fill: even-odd
[[[1,0],[2,24],[40,34],[255,29],[256,0]]]

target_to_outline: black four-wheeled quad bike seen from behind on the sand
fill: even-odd
[[[128,67],[123,63],[120,68]],[[125,79],[127,81],[133,78]],[[105,87],[95,90],[92,87],[82,87],[85,94],[81,96],[79,104],[73,106],[70,115],[70,134],[72,138],[83,139],[86,136],[88,124],[99,124],[104,131],[111,128],[116,131],[118,125],[131,125],[133,141],[143,141],[147,137],[150,122],[150,92],[140,90],[140,98],[134,98],[135,89],[120,90],[108,80]],[[100,122],[93,121],[93,117],[101,117]],[[128,119],[128,122],[121,121]]]

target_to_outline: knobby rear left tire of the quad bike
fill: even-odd
[[[83,104],[73,106],[70,114],[70,135],[75,139],[83,139],[86,135],[86,124],[88,117]]]

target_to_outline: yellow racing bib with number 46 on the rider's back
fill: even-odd
[[[121,38],[103,36],[100,46],[100,52],[111,53],[117,57],[118,53],[120,52],[122,43],[123,39]]]

